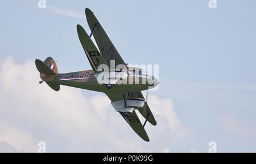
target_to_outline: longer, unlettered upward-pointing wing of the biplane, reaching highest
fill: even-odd
[[[94,16],[93,12],[89,8],[85,9],[86,19],[89,24],[90,30],[93,32],[93,37],[97,42],[98,48],[104,57],[106,63],[110,66],[110,60],[115,60],[115,67],[118,64],[125,64],[117,49],[110,41],[108,35],[101,27],[100,22]]]

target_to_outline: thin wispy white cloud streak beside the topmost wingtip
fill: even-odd
[[[85,19],[85,15],[78,14],[73,10],[67,10],[64,8],[59,8],[54,6],[47,6],[47,9],[59,15],[69,16],[69,17],[78,18],[78,19]]]

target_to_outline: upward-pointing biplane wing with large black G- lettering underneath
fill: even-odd
[[[105,64],[106,66],[108,66],[105,59],[102,57],[101,53],[98,51],[98,49],[93,44],[92,40],[85,32],[84,28],[81,27],[81,25],[77,25],[77,33],[79,35],[79,40],[82,44],[82,48],[84,48],[85,54],[90,62],[90,65],[93,68],[93,71],[97,72],[97,68],[98,66],[100,66],[100,64]]]

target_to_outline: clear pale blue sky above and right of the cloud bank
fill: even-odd
[[[88,7],[127,63],[159,64],[160,87],[152,94],[170,98],[177,117],[192,131],[184,142],[166,148],[207,152],[209,141],[216,141],[218,152],[255,152],[256,2],[217,0],[213,9],[208,2],[46,0],[47,7],[38,8],[38,1],[5,1],[0,60],[13,57],[20,64],[51,56],[60,72],[91,69],[76,32],[81,24],[89,33]],[[160,139],[172,137],[159,133]]]

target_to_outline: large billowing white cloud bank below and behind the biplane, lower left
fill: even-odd
[[[155,117],[168,123],[147,124],[148,136],[155,139],[148,144],[104,94],[85,97],[81,89],[65,86],[55,92],[46,83],[39,84],[33,61],[15,63],[6,58],[1,63],[0,141],[19,152],[37,152],[39,141],[46,142],[48,152],[158,152],[171,145],[177,132],[189,135],[170,98],[150,96]],[[160,142],[159,132],[164,133]]]

